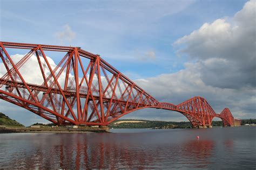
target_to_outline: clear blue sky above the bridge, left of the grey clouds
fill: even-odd
[[[172,44],[203,23],[233,16],[244,3],[1,1],[1,40],[81,46],[100,54],[120,71],[145,78],[183,69],[186,58],[177,57]],[[71,40],[56,36],[65,25],[75,32]],[[139,59],[149,51],[156,54],[156,60]]]

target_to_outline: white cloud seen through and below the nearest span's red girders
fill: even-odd
[[[10,56],[12,61],[14,63],[18,63],[23,57],[24,55],[19,55],[19,54],[16,54],[16,55],[11,55]],[[51,66],[51,69],[52,70],[55,70],[55,67],[57,66],[55,64],[55,62],[50,58],[50,57],[46,57],[50,66]],[[46,63],[45,63],[45,60],[43,57],[40,57],[40,60],[41,60],[41,64],[43,66],[43,70],[44,70],[44,74],[45,74],[45,77],[48,78],[48,76],[50,75],[50,70],[48,69],[48,66],[46,66]],[[66,62],[66,61],[65,61]],[[64,63],[65,63],[64,62]],[[84,63],[85,64],[85,63]],[[59,71],[60,69],[63,69],[63,66],[64,64],[61,64],[60,67],[58,68],[58,70],[55,72],[55,76],[57,74],[59,74]],[[85,65],[84,65],[85,66]],[[11,66],[9,66],[11,68]],[[66,68],[64,68],[63,72],[59,75],[58,77],[58,83],[59,85],[63,88],[64,87],[64,82],[65,82],[65,75],[66,75]],[[81,71],[81,70],[79,70]],[[25,80],[26,83],[28,84],[36,84],[36,85],[42,85],[44,80],[43,80],[43,76],[42,76],[42,72],[41,72],[41,69],[39,67],[39,64],[38,64],[38,60],[37,60],[37,57],[35,55],[32,55],[28,60],[26,60],[26,62],[21,66],[19,67],[19,72],[21,73],[23,79]],[[89,70],[90,72],[90,70]],[[5,66],[3,63],[0,62],[0,77],[2,77],[4,74],[6,73],[6,69],[5,69]],[[80,73],[80,72],[79,72]],[[110,73],[109,73],[110,74]],[[13,74],[15,76],[15,74]],[[81,73],[81,76],[82,76],[82,73]],[[108,75],[108,76],[112,76],[112,75]],[[18,76],[17,76],[18,77]],[[71,87],[71,88],[75,88],[73,87],[71,84],[71,79],[73,78],[73,72],[71,71],[70,74],[69,74],[69,83],[68,83],[68,88]],[[89,75],[87,75],[87,78],[89,79]],[[102,85],[104,88],[106,88],[107,86],[107,80],[106,78],[102,75],[100,76],[101,80],[102,80]],[[82,78],[79,78],[79,82]],[[94,86],[93,88],[95,90],[98,89],[98,84],[96,83],[97,81],[97,75],[94,74],[93,76],[93,83],[92,84],[95,84],[96,86]],[[16,79],[17,81],[22,81],[21,79],[17,78]],[[48,81],[48,85],[50,86],[51,82],[53,82],[54,79],[53,78],[50,78],[49,81]],[[84,87],[87,87],[86,86],[86,82],[83,81],[83,84],[82,86]],[[1,90],[6,90],[5,89],[5,86],[2,86],[0,88]],[[83,88],[82,88],[83,89]],[[120,89],[122,89],[124,91],[125,89],[125,86],[124,84],[120,84]],[[26,91],[26,90],[25,90]],[[14,92],[15,93],[15,92]],[[112,95],[111,92],[108,92],[106,93],[106,96],[107,97],[110,97]],[[117,93],[116,94],[117,97],[120,97],[121,94],[120,93]],[[43,96],[43,93],[39,93],[38,94],[38,98],[39,100],[42,99],[42,96]],[[26,96],[28,97],[28,96]],[[59,97],[59,96],[58,96]],[[58,98],[57,97],[57,98]],[[60,100],[59,100],[60,101]],[[3,113],[8,113],[8,115],[10,115],[11,118],[15,118],[16,120],[18,120],[19,122],[21,122],[22,124],[24,125],[31,125],[33,123],[42,123],[42,122],[45,122],[45,121],[48,121],[48,120],[45,120],[27,110],[25,110],[24,108],[22,107],[18,107],[16,105],[12,105],[10,103],[7,103],[6,101],[4,100],[0,100],[0,112],[3,112]],[[45,106],[45,105],[44,105]],[[56,105],[57,107],[58,105]],[[48,106],[50,109],[51,106]],[[58,109],[58,107],[57,107]],[[76,113],[76,105],[73,107],[73,111]],[[29,113],[28,113],[29,112]]]

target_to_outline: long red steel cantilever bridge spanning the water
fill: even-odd
[[[14,52],[26,54],[11,56]],[[55,65],[46,55],[62,59]],[[5,71],[0,74],[0,98],[57,125],[106,126],[142,108],[180,112],[194,127],[211,126],[214,117],[224,125],[234,124],[228,108],[217,114],[202,97],[179,105],[161,103],[104,59],[80,47],[0,42],[0,56],[0,70]]]

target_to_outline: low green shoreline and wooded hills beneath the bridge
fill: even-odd
[[[241,125],[254,126],[256,119],[244,119]],[[223,126],[222,121],[212,121],[212,126]],[[171,128],[192,128],[188,121],[155,121],[138,119],[119,119],[113,121],[109,126],[62,126],[58,127],[52,123],[36,123],[25,127],[16,120],[12,120],[4,113],[0,112],[0,133],[87,133],[87,132],[109,132],[113,128],[152,128],[152,129],[171,129]]]

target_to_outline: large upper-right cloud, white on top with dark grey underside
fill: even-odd
[[[179,55],[198,60],[205,84],[239,89],[256,86],[256,1],[247,2],[230,22],[217,19],[178,39]]]

